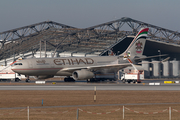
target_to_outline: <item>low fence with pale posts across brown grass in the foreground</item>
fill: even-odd
[[[102,109],[101,109],[102,110]],[[146,111],[145,111],[146,110]],[[157,109],[156,109],[157,110]],[[126,106],[112,106],[109,110],[103,108],[103,112],[97,111],[97,109],[90,109],[88,107],[82,108],[27,108],[23,109],[0,109],[0,119],[39,119],[45,117],[48,118],[61,118],[61,119],[76,119],[76,120],[83,120],[83,119],[131,119],[131,120],[141,120],[146,118],[159,120],[159,119],[166,119],[166,120],[179,120],[180,119],[180,110],[174,109],[172,107],[166,109],[158,109],[150,110],[147,109],[139,109],[137,108],[130,108]],[[174,116],[173,116],[174,115]]]

